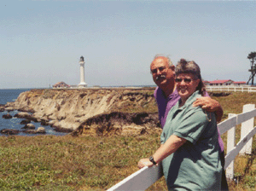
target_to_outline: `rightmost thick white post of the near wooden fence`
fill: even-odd
[[[242,108],[242,113],[246,113],[249,111],[252,111],[255,108],[255,104],[247,104],[244,105]],[[244,136],[247,136],[247,134],[253,130],[253,124],[254,124],[254,118],[252,119],[248,119],[247,121],[241,123],[241,137],[240,140],[242,140],[242,138]],[[253,138],[251,138],[247,144],[241,148],[241,151],[239,152],[240,154],[251,154],[252,153],[252,144],[253,144]]]

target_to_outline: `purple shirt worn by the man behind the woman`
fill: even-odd
[[[207,94],[207,96],[209,95]],[[169,111],[172,109],[173,106],[175,106],[177,101],[180,99],[180,96],[178,95],[177,89],[176,89],[172,92],[170,96],[166,97],[164,92],[159,87],[157,87],[154,90],[154,98],[155,98],[155,101],[157,102],[161,128],[163,128],[166,124],[166,118]],[[221,136],[219,135],[219,130],[218,130],[218,145],[220,148],[220,152],[224,152],[224,143],[221,139]]]

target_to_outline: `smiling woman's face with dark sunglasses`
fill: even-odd
[[[195,92],[200,79],[195,79],[192,73],[180,73],[175,81],[178,95],[182,98],[182,101],[186,101]]]

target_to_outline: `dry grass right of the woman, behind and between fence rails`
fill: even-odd
[[[224,108],[224,119],[228,119],[229,113],[242,113],[245,104],[255,104],[255,93],[233,92],[230,96],[212,97],[219,101]],[[255,124],[255,120],[254,120]],[[236,143],[240,141],[241,124],[236,126]],[[226,133],[222,136],[224,143],[227,140]],[[255,190],[256,189],[256,136],[253,136],[252,155],[236,156],[235,182],[229,182],[230,190]],[[224,145],[226,149],[226,144]]]

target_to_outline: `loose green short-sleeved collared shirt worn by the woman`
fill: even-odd
[[[195,91],[183,107],[179,107],[180,101],[172,107],[160,137],[161,144],[172,135],[187,140],[162,161],[169,190],[220,190],[217,122],[214,113],[192,107],[200,96]]]

